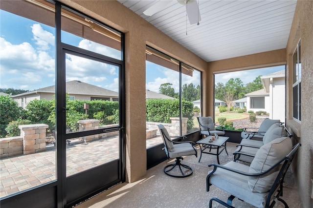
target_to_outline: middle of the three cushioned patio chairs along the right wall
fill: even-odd
[[[286,126],[275,123],[268,128],[262,138],[262,141],[242,139],[240,144],[237,145],[238,148],[233,153],[234,161],[240,160],[251,163],[256,152],[261,146],[273,141],[274,139],[287,136],[291,138],[292,134],[288,131]]]

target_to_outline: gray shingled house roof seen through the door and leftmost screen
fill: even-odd
[[[83,83],[77,80],[67,82],[66,90],[68,94],[118,97],[118,93],[115,91],[98,87],[92,84]],[[41,92],[55,93],[55,85],[40,88],[31,92],[22,93],[22,94],[15,95],[12,97],[19,97],[22,95],[29,95],[29,94],[41,93]]]

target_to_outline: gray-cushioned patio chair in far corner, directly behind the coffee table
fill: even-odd
[[[211,116],[197,117],[197,119],[200,125],[200,135],[204,135],[205,137],[214,136],[215,133],[221,136],[225,135],[224,126],[216,125]],[[217,129],[215,126],[220,127],[221,129]]]

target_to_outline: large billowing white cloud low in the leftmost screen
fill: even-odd
[[[1,87],[38,85],[48,73],[54,73],[54,59],[28,42],[14,45],[0,38],[0,57]],[[33,85],[31,90],[35,88]]]

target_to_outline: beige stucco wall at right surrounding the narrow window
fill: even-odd
[[[301,39],[301,124],[292,120],[292,54]],[[296,173],[298,192],[304,208],[313,207],[313,1],[298,1],[287,44],[287,126],[292,129],[294,142],[300,142]]]

